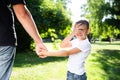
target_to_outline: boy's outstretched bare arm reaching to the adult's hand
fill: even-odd
[[[60,50],[60,51],[48,51],[48,52],[40,52],[40,56],[69,56],[69,55],[72,55],[72,54],[76,54],[78,52],[81,52],[80,49],[78,48],[73,48],[73,49],[70,49],[70,50]]]

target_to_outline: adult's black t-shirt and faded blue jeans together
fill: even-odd
[[[11,6],[24,0],[0,0],[0,80],[10,80],[16,51],[16,33]]]

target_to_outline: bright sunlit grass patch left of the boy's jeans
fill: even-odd
[[[66,62],[64,60],[27,67],[14,67],[11,80],[65,80]]]

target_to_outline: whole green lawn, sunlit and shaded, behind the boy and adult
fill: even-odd
[[[45,44],[56,48],[52,43]],[[11,80],[65,80],[67,57],[40,59],[34,52],[16,54]],[[97,42],[85,68],[88,80],[120,80],[120,42]]]

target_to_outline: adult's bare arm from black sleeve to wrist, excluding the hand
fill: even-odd
[[[19,11],[16,10],[17,8],[20,8]],[[34,39],[36,43],[41,43],[42,39],[39,36],[36,24],[29,10],[24,5],[19,5],[18,7],[15,6],[14,11],[26,32]]]

